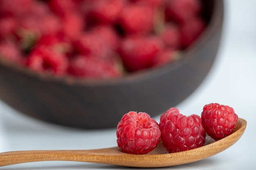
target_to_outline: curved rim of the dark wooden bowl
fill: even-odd
[[[29,68],[26,68],[25,66],[14,64],[2,58],[0,58],[0,66],[4,66],[5,68],[10,69],[11,71],[15,71],[19,74],[32,77],[35,79],[40,79],[52,83],[67,84],[71,86],[112,86],[117,84],[129,84],[130,82],[137,82],[145,79],[152,79],[153,77],[165,74],[170,70],[174,70],[180,65],[189,62],[192,58],[190,54],[193,53],[196,49],[200,48],[200,44],[202,44],[202,42],[207,41],[207,39],[209,39],[211,34],[214,32],[214,25],[216,25],[216,22],[218,22],[219,19],[221,19],[221,22],[223,20],[223,15],[221,16],[221,18],[219,18],[219,16],[217,15],[217,13],[220,12],[217,9],[220,9],[221,12],[223,12],[223,0],[214,0],[213,5],[213,12],[211,14],[209,23],[207,23],[206,28],[200,34],[200,36],[186,50],[180,52],[181,57],[178,60],[175,60],[163,66],[147,68],[140,71],[136,71],[134,73],[126,74],[118,78],[110,79],[83,79],[69,75],[61,77],[45,73],[38,73],[36,71],[32,71]]]

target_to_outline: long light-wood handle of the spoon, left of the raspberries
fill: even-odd
[[[115,163],[114,156],[108,152],[119,152],[118,148],[94,150],[28,150],[0,153],[0,166],[38,161],[83,161],[91,163]]]

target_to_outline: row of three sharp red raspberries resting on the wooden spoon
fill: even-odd
[[[117,144],[122,152],[146,154],[162,141],[167,152],[181,152],[203,146],[206,134],[216,141],[227,137],[237,121],[233,108],[218,103],[205,105],[201,117],[170,108],[159,124],[147,113],[130,111],[117,125]]]

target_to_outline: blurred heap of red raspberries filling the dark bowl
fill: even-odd
[[[175,60],[205,26],[200,0],[0,0],[0,59],[116,78]]]

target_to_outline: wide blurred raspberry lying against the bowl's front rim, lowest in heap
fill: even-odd
[[[79,55],[71,59],[68,73],[80,78],[117,78],[123,73],[118,64],[114,60]]]

